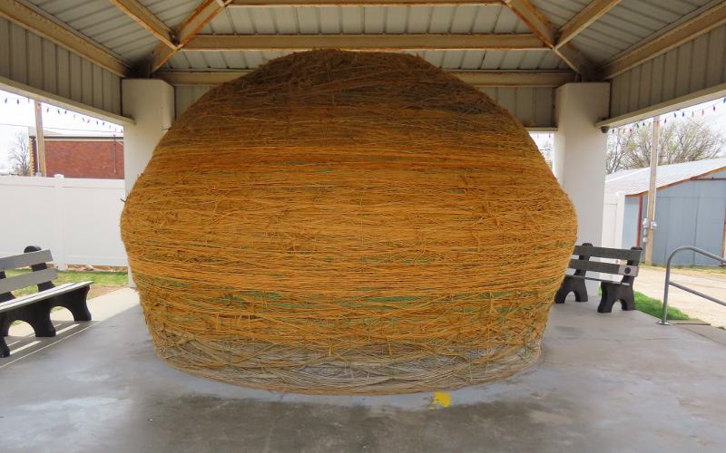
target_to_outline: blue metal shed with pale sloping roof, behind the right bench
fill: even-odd
[[[650,169],[608,175],[605,194],[623,194],[623,247],[643,246]],[[714,255],[726,253],[726,159],[706,159],[658,167],[653,263],[665,264],[679,246],[697,246]],[[716,265],[682,253],[675,265]]]

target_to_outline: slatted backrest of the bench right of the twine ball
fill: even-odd
[[[573,255],[576,259],[570,260],[570,269],[574,269],[574,275],[584,276],[587,271],[600,272],[603,274],[623,275],[623,283],[633,283],[638,275],[638,264],[641,261],[643,249],[631,247],[628,249],[596,247],[589,243],[582,246],[574,246]],[[626,261],[625,265],[615,263],[603,263],[590,261],[591,257],[620,259]]]

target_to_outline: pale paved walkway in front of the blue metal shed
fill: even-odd
[[[696,275],[693,271],[672,269],[671,281],[726,301],[726,275],[708,273]],[[640,274],[635,279],[635,291],[662,300],[663,284],[665,284],[665,269],[641,267]],[[686,293],[671,286],[668,293],[668,305],[717,327],[726,326],[726,307],[714,304],[695,294]]]

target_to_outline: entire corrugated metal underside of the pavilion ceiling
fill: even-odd
[[[493,0],[469,5],[424,5],[427,2],[408,2],[416,5],[227,5],[219,14],[211,14],[208,23],[194,30],[196,38],[207,36],[250,35],[325,36],[325,35],[519,35],[535,38],[537,31],[527,24],[521,14],[515,14],[513,4],[526,0]],[[544,23],[554,32],[572,23],[593,4],[610,4],[604,14],[598,14],[567,43],[579,51],[584,61],[603,67],[623,53],[651,41],[669,28],[680,24],[690,15],[714,5],[714,0],[529,0],[544,16]],[[221,2],[221,0],[220,0]],[[227,0],[229,2],[229,0]],[[511,3],[510,3],[511,2]],[[27,2],[26,2],[27,3]],[[164,26],[181,30],[185,20],[201,6],[217,4],[211,0],[30,0],[36,9],[57,22],[97,43],[130,67],[152,58],[161,44],[148,27],[142,26],[130,14],[115,4],[140,4],[155,15]],[[248,2],[249,4],[250,2]],[[300,2],[290,2],[298,3]],[[319,3],[313,0],[311,4]],[[334,2],[323,2],[333,4]],[[339,2],[342,4],[353,2]],[[371,3],[368,1],[359,4]],[[372,2],[377,3],[377,2]],[[383,3],[383,2],[378,2]],[[404,3],[398,0],[391,3]],[[442,3],[437,0],[429,3]],[[453,4],[466,3],[452,0]],[[504,4],[509,4],[504,5]],[[197,35],[198,34],[198,35]],[[556,37],[556,34],[554,34]],[[537,35],[537,37],[540,37]],[[196,39],[195,38],[195,39]],[[335,45],[335,36],[330,36]],[[192,40],[190,43],[194,43]],[[546,39],[544,40],[546,43]],[[183,45],[183,43],[182,43]],[[171,56],[152,70],[167,71],[226,71],[254,69],[261,63],[293,49],[240,48],[223,50],[188,45],[174,48]],[[460,71],[554,71],[577,70],[573,60],[566,61],[557,46],[542,45],[529,49],[453,49],[416,48],[391,49],[420,55],[438,67]]]

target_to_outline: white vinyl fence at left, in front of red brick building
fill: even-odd
[[[0,176],[0,255],[49,248],[66,265],[127,265],[123,179]]]

